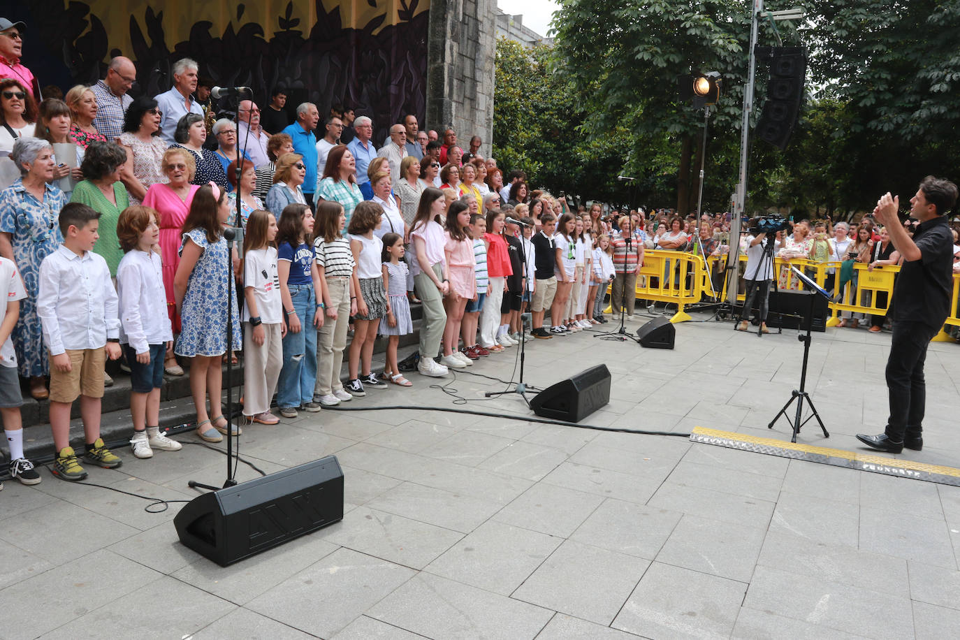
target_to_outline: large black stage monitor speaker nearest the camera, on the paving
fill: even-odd
[[[204,493],[174,525],[180,542],[220,566],[344,519],[344,472],[335,456]]]

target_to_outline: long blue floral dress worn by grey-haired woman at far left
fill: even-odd
[[[0,232],[11,234],[13,262],[27,289],[20,300],[20,318],[13,328],[13,347],[20,375],[46,375],[50,372],[43,331],[36,316],[36,295],[39,293],[40,263],[63,241],[57,218],[66,204],[66,196],[57,187],[47,184],[43,201],[38,201],[17,178],[0,192]]]

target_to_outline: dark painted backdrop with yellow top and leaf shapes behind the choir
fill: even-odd
[[[265,106],[276,85],[288,105],[333,103],[374,120],[375,140],[405,113],[426,110],[429,0],[32,0],[3,2],[25,20],[24,62],[41,85],[95,83],[109,59],[131,58],[134,95],[172,83],[184,56],[222,86],[251,86]],[[41,48],[41,51],[37,51]]]

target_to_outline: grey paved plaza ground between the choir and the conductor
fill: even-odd
[[[641,321],[628,323],[636,330]],[[605,325],[607,327],[611,324]],[[528,344],[540,388],[605,363],[611,402],[585,423],[789,439],[767,422],[798,386],[797,332],[677,326],[676,349],[582,332]],[[831,437],[880,433],[890,336],[814,334],[807,389]],[[470,372],[509,379],[516,347]],[[0,638],[948,638],[960,637],[960,487],[737,451],[687,439],[542,425],[516,395],[455,408],[490,379],[410,374],[414,388],[301,414],[240,438],[270,473],[329,454],[345,474],[341,523],[221,568],[184,548],[173,517],[70,484],[0,492]],[[960,466],[960,345],[931,344],[924,450]],[[192,435],[182,441],[195,440]],[[200,446],[89,481],[165,498],[220,485]],[[239,480],[257,474],[239,465]]]

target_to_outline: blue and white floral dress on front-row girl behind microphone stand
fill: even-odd
[[[191,229],[183,234],[203,250],[187,281],[186,294],[180,306],[180,338],[175,352],[179,356],[219,356],[227,351],[227,296],[233,318],[234,351],[240,350],[240,315],[237,298],[230,294],[233,280],[229,266],[229,249],[223,236],[215,243],[207,242],[204,229]],[[180,253],[183,245],[180,245]]]

